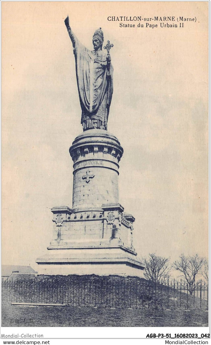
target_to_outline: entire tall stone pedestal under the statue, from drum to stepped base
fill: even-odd
[[[51,209],[52,241],[48,254],[37,259],[38,274],[143,276],[133,247],[135,219],[118,201],[122,154],[106,130],[90,129],[73,141],[72,209]]]

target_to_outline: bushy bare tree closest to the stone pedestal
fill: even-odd
[[[163,258],[155,255],[155,253],[149,254],[149,259],[143,257],[142,261],[145,265],[144,276],[155,283],[164,282],[170,276],[172,266],[169,260],[170,258]]]

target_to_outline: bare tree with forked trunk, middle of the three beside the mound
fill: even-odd
[[[187,282],[188,291],[193,294],[196,277],[201,273],[204,264],[204,258],[199,257],[198,254],[185,256],[180,255],[180,259],[174,262],[174,267],[182,272],[182,276]]]

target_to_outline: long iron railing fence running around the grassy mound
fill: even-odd
[[[78,307],[208,309],[208,285],[194,284],[192,294],[180,280],[154,283],[138,277],[35,276],[2,279],[3,301],[67,304]]]

